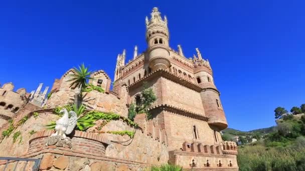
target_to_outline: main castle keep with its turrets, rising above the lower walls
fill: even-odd
[[[219,131],[227,127],[227,121],[209,61],[198,48],[197,56],[186,58],[181,45],[178,52],[169,46],[168,20],[157,7],[145,22],[148,47],[127,64],[125,51],[118,55],[114,91],[119,94],[117,86],[126,84],[131,103],[143,82],[154,88],[158,98],[151,108],[154,124],[165,131],[170,149],[179,149],[186,140],[220,143]]]

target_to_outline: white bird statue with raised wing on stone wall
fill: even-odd
[[[74,111],[67,111],[66,108],[63,108],[59,111],[60,113],[64,113],[64,115],[56,121],[55,130],[56,132],[53,133],[51,136],[62,136],[66,138],[66,135],[70,134],[77,122],[77,114]],[[69,118],[69,114],[71,117]]]

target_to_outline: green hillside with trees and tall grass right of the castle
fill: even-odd
[[[261,135],[256,142],[238,147],[238,164],[241,171],[305,170],[305,104],[275,110],[277,125],[274,127],[242,132],[227,129],[226,134],[242,136]],[[244,133],[244,134],[243,134]]]

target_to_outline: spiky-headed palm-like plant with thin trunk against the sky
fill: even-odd
[[[71,78],[67,81],[71,82],[70,87],[78,87],[79,92],[75,94],[74,103],[77,107],[81,105],[82,102],[82,92],[87,87],[87,81],[92,80],[93,78],[90,77],[91,71],[89,71],[89,68],[82,63],[80,66],[74,67],[74,70],[76,73],[69,74]]]

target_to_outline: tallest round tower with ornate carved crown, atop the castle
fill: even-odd
[[[171,65],[169,56],[169,29],[166,16],[161,17],[157,7],[153,8],[151,18],[145,18],[146,42],[148,44],[149,67],[154,71],[157,69],[168,69]]]

